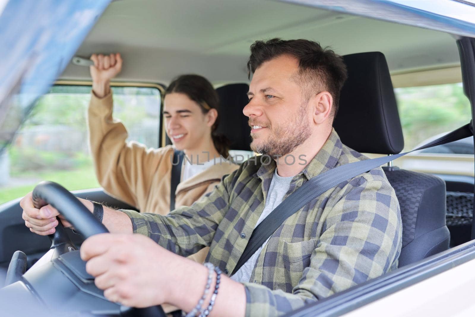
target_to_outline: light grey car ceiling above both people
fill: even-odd
[[[118,81],[167,84],[183,73],[218,85],[246,82],[255,40],[306,38],[339,54],[381,51],[392,74],[459,65],[455,38],[421,29],[274,0],[116,0],[76,55],[120,52]],[[61,79],[90,79],[70,64]]]

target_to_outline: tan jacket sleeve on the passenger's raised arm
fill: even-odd
[[[88,109],[89,145],[97,179],[112,196],[138,206],[148,197],[152,177],[166,148],[147,149],[136,142],[126,142],[125,126],[112,117],[112,93],[98,98],[91,92]]]

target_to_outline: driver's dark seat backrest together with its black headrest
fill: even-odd
[[[386,58],[380,52],[343,57],[348,80],[333,126],[342,143],[362,153],[397,154],[404,147]],[[399,267],[447,250],[445,182],[433,175],[385,167],[399,200],[402,250]]]

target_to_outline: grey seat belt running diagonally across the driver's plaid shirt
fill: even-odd
[[[472,123],[470,122],[469,124],[412,151],[344,164],[309,179],[307,182],[303,183],[302,186],[297,188],[295,192],[290,194],[273,211],[271,211],[271,213],[269,213],[269,215],[259,223],[259,225],[257,225],[247,242],[247,246],[244,249],[241,258],[237,261],[237,265],[232,274],[235,274],[237,270],[240,269],[254,253],[256,253],[256,251],[288,217],[329,189],[408,153],[427,149],[436,145],[447,144],[472,135]]]

